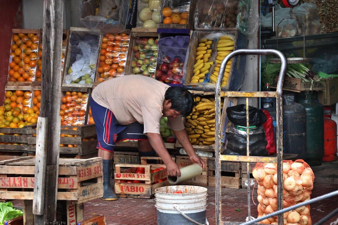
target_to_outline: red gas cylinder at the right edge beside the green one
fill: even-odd
[[[337,160],[337,123],[324,118],[324,162]]]

